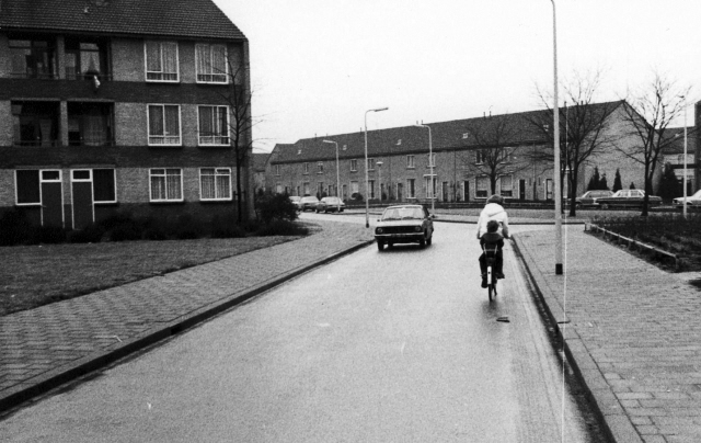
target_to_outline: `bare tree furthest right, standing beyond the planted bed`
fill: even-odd
[[[674,137],[666,136],[673,121],[683,113],[686,98],[691,87],[680,87],[675,80],[654,71],[653,80],[634,93],[629,92],[624,109],[624,121],[630,127],[629,136],[636,143],[632,147],[619,147],[628,158],[643,164],[644,190],[642,216],[647,216],[653,178],[660,161],[660,154],[674,144]]]

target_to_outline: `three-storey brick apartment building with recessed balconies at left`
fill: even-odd
[[[227,93],[250,93],[248,50],[210,0],[0,1],[0,214],[79,229],[234,211]]]

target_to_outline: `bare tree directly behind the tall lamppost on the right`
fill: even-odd
[[[589,159],[616,146],[618,137],[608,130],[609,116],[623,104],[622,101],[595,103],[597,90],[601,84],[600,69],[587,75],[575,72],[573,80],[564,87],[565,106],[560,112],[560,180],[567,180],[570,191],[570,216],[576,215],[574,205],[577,196],[577,183],[583,167]],[[552,100],[536,87],[545,111],[524,115],[527,124],[549,146],[535,149],[529,157],[531,161],[553,163],[555,159],[553,144],[553,109]],[[570,173],[567,173],[567,171]],[[562,190],[562,188],[561,188]],[[560,196],[562,198],[562,195]]]

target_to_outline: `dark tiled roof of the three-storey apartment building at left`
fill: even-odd
[[[211,0],[0,0],[0,29],[245,39]]]

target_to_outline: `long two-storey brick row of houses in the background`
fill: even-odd
[[[622,133],[624,117],[619,107],[623,103],[593,105],[610,114],[607,130]],[[340,195],[343,200],[360,194],[363,198],[395,202],[479,202],[494,189],[507,200],[552,201],[550,115],[531,111],[370,130],[367,188],[365,133],[279,144],[268,160],[266,182],[278,193]],[[616,139],[623,147],[634,144],[631,137]],[[611,179],[617,169],[624,177],[642,178],[635,161],[610,149],[583,166],[577,193],[584,192],[595,167]],[[563,186],[566,193],[566,180]]]

